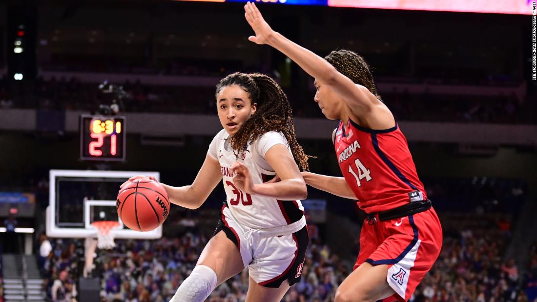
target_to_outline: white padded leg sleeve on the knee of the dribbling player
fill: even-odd
[[[216,273],[207,266],[196,266],[183,281],[170,302],[203,302],[216,288]]]

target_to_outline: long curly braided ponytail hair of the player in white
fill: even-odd
[[[248,144],[256,141],[266,132],[282,132],[291,146],[293,156],[300,163],[303,171],[309,170],[308,156],[296,140],[293,124],[293,111],[287,96],[271,77],[262,73],[235,72],[220,80],[216,85],[216,94],[223,87],[238,85],[250,94],[252,104],[257,103],[256,112],[244,122],[237,132],[228,138],[235,151],[235,156],[246,152]]]

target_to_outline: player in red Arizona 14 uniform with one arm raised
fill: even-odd
[[[438,257],[442,229],[367,64],[348,50],[324,60],[273,31],[255,4],[244,9],[255,31],[249,40],[278,49],[313,76],[315,102],[327,119],[340,121],[332,140],[344,177],[302,172],[308,185],[358,200],[368,213],[354,271],[336,301],[408,300]]]

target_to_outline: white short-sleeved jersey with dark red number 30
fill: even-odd
[[[226,130],[222,129],[218,132],[209,145],[207,153],[220,163],[228,207],[237,222],[251,229],[267,229],[300,220],[304,215],[304,208],[300,201],[279,201],[271,197],[250,195],[235,186],[234,175],[229,171],[229,167],[237,158],[226,140],[228,137]],[[274,170],[265,160],[265,153],[277,144],[285,145],[289,150],[289,143],[281,132],[267,132],[248,145],[244,158],[239,159],[249,168],[253,183],[263,183],[266,175],[275,175]]]

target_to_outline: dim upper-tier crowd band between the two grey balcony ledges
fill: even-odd
[[[226,69],[224,69],[226,70]],[[244,70],[243,70],[244,71]],[[193,76],[199,75],[193,73]],[[219,76],[225,76],[226,72]],[[0,81],[0,108],[23,106],[13,101],[7,82]],[[125,98],[119,102],[121,112],[197,113],[213,114],[216,106],[213,87],[150,86],[139,80],[121,83]],[[294,115],[322,117],[313,106],[314,92],[300,87],[284,87],[293,104]],[[475,95],[411,94],[408,91],[381,93],[382,99],[397,120],[462,123],[534,123],[531,102],[520,103],[515,95],[479,97]],[[35,106],[46,110],[95,111],[100,104],[112,104],[110,95],[99,92],[97,85],[83,84],[76,78],[38,78],[35,88]],[[309,104],[311,103],[311,104]],[[25,104],[28,104],[26,102]]]

